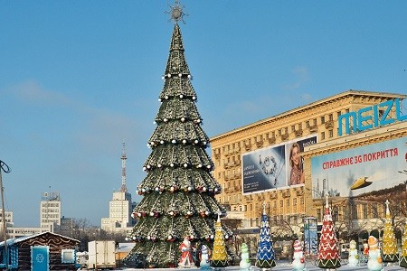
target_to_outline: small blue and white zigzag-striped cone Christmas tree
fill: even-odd
[[[276,266],[273,240],[270,234],[269,217],[266,215],[266,204],[264,203],[263,214],[261,215],[260,240],[255,265],[260,268]]]

